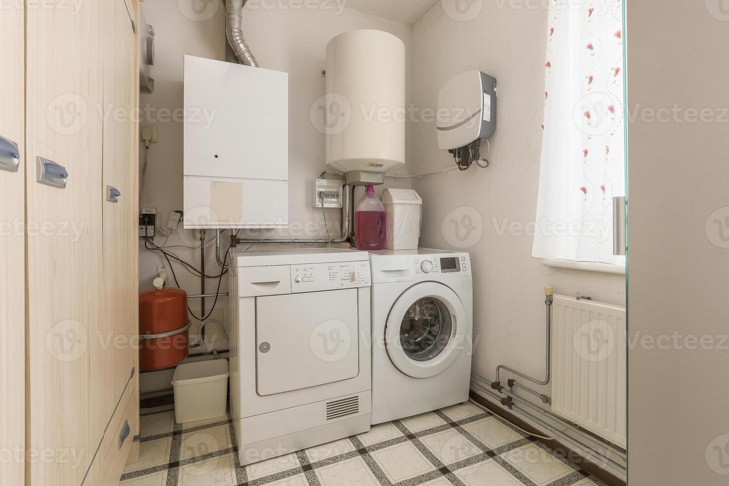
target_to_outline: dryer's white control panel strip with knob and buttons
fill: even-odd
[[[291,265],[292,294],[370,285],[370,262],[367,261]]]

